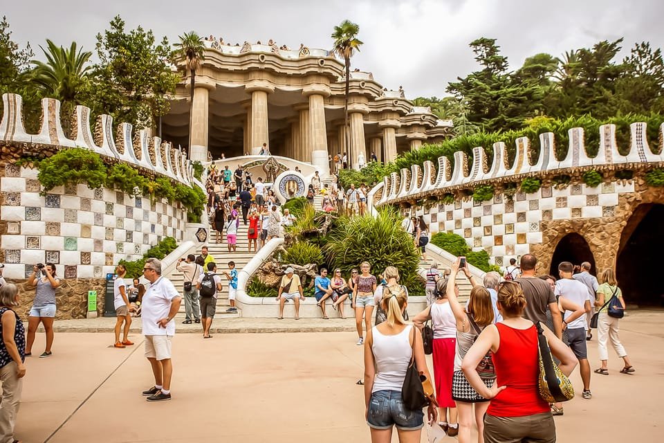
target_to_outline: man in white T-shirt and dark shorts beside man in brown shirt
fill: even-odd
[[[582,282],[572,278],[573,271],[574,265],[570,262],[562,262],[558,265],[560,280],[555,282],[554,293],[556,296],[564,297],[575,305],[583,306],[585,311],[588,312],[590,311],[588,288]],[[590,392],[590,364],[588,363],[586,347],[586,317],[580,316],[568,324],[566,320],[571,314],[573,314],[573,311],[565,311],[562,328],[563,330],[566,328],[569,347],[574,352],[576,358],[579,359],[579,370],[583,381],[582,397],[589,400],[593,395]]]

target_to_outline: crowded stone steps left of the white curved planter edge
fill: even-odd
[[[208,244],[207,244],[208,253],[210,253],[210,255],[214,257],[214,262],[216,263],[218,273],[221,273],[222,271],[229,272],[228,262],[230,261],[235,262],[235,269],[237,269],[237,271],[240,271],[241,269],[243,269],[244,266],[246,266],[249,260],[251,260],[252,257],[254,256],[253,251],[251,253],[247,252],[249,247],[249,240],[247,238],[248,227],[249,227],[248,222],[247,225],[243,224],[242,215],[240,214],[240,225],[237,228],[237,251],[235,252],[228,252],[228,246],[226,246],[225,243],[225,235],[222,235],[220,243],[216,243],[216,234],[217,234],[216,231],[210,233],[210,237],[208,238]],[[260,238],[258,239],[258,241],[260,242]],[[200,253],[201,253],[200,250],[196,251],[196,256],[198,256]],[[169,275],[169,279],[173,282],[176,289],[180,293],[183,293],[183,284],[184,284],[183,274],[178,270],[174,270],[173,273]],[[228,301],[228,279],[222,275],[221,282],[223,285],[223,291],[221,291],[221,294],[218,294],[218,297],[216,299],[216,315],[214,316],[214,320],[216,321],[219,318],[241,317],[242,313],[239,308],[235,312],[226,311],[226,309],[230,307],[230,302]],[[180,310],[176,315],[176,319],[184,320],[184,318],[185,318],[185,303],[183,301],[180,306]]]

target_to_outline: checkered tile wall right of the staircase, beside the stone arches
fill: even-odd
[[[598,188],[573,185],[564,189],[540,188],[522,192],[513,200],[496,195],[481,203],[472,200],[417,208],[432,233],[461,235],[473,251],[484,249],[493,264],[506,266],[512,257],[530,252],[531,244],[542,243],[540,222],[578,218],[612,217],[618,195],[634,192],[634,183],[602,183]]]

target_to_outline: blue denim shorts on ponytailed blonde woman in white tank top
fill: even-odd
[[[403,431],[416,431],[424,426],[424,413],[407,409],[398,390],[377,390],[369,399],[367,424],[374,429],[389,429],[396,425]]]

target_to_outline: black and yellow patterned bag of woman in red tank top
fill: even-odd
[[[547,403],[557,401],[568,401],[574,398],[574,386],[562,373],[560,368],[553,363],[551,349],[546,343],[544,329],[539,322],[535,323],[537,327],[537,344],[540,360],[540,376],[537,377],[537,387],[540,397]]]

